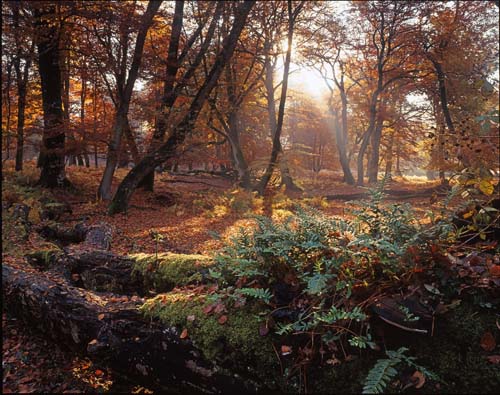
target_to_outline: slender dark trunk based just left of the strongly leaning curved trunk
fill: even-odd
[[[160,8],[161,1],[150,1],[148,7],[142,17],[141,26],[137,34],[137,39],[134,48],[132,64],[128,73],[127,82],[125,84],[120,102],[115,115],[113,124],[113,135],[108,145],[108,155],[106,158],[106,167],[99,185],[98,196],[101,199],[111,199],[111,184],[115,173],[116,165],[118,164],[118,150],[120,149],[123,130],[127,125],[127,114],[130,106],[130,99],[134,88],[135,80],[139,72],[139,67],[142,61],[142,52],[146,41],[147,32],[153,23],[153,18]]]

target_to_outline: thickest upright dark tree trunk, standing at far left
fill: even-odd
[[[39,185],[56,188],[69,184],[64,168],[64,120],[61,100],[61,70],[59,68],[59,32],[49,23],[55,6],[35,8],[38,34],[38,70],[42,83],[44,130]]]

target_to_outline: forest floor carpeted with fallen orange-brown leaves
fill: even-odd
[[[157,175],[154,193],[138,191],[126,214],[109,217],[106,202],[96,201],[95,195],[102,169],[69,167],[67,173],[75,189],[57,195],[58,200],[72,207],[72,213],[63,218],[65,224],[69,226],[82,220],[87,224],[110,224],[113,227],[112,251],[119,254],[154,253],[157,245],[152,235],[155,232],[163,236],[158,246],[160,251],[210,254],[240,227],[252,226],[251,216],[254,214],[279,220],[294,204],[302,203],[328,215],[346,216],[356,204],[346,199],[327,201],[324,196],[366,192],[364,188],[347,186],[340,180],[318,177],[304,185],[307,192],[303,194],[287,196],[275,190],[264,198],[255,198],[221,177],[164,173]],[[125,174],[124,169],[117,171],[115,186]],[[3,177],[7,181],[30,185],[36,181],[37,170],[33,164],[27,164],[21,174],[15,174],[12,164],[7,162],[3,167]],[[418,192],[434,186],[436,182],[400,178],[389,187]],[[2,192],[2,201],[5,201],[4,193],[9,192]],[[405,199],[405,202],[411,204],[422,218],[428,210],[441,208],[432,196]],[[210,231],[221,235],[221,240],[215,240]],[[4,243],[2,261],[25,270],[23,255],[46,245],[34,233],[27,239],[14,234],[4,235],[3,239],[8,238],[8,243]],[[4,393],[150,392],[113,377],[112,372],[34,333],[5,312],[2,314],[2,332]]]

